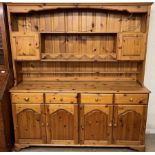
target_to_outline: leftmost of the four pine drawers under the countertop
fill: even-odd
[[[11,93],[12,103],[43,103],[43,93]]]

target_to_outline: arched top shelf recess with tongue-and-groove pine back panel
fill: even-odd
[[[61,9],[12,14],[12,31],[142,32],[145,13],[96,9]]]

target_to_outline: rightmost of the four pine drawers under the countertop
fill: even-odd
[[[116,104],[147,104],[148,94],[116,94]]]

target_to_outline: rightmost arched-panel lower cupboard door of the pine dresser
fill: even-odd
[[[114,109],[114,143],[120,145],[143,144],[147,106],[118,105]]]

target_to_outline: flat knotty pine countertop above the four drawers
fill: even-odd
[[[135,81],[97,81],[97,82],[21,82],[10,90],[11,93],[29,92],[80,92],[80,93],[149,93],[150,91],[142,87]]]

